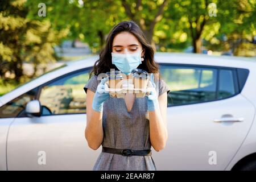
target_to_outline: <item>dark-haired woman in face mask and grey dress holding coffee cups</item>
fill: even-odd
[[[104,92],[106,78],[99,78],[100,74],[115,69],[130,78],[135,68],[154,73],[151,82],[155,90],[149,96],[136,98],[133,93],[127,93],[125,98],[112,98]],[[117,24],[84,87],[87,94],[85,138],[93,150],[102,145],[93,170],[156,170],[150,148],[152,145],[160,151],[166,146],[167,93],[170,91],[158,73],[154,50],[139,26],[133,21]]]

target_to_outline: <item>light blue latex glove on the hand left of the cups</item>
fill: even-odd
[[[110,98],[109,92],[105,90],[105,82],[108,78],[103,78],[100,84],[97,86],[96,92],[93,97],[92,109],[98,112],[103,110],[103,103]]]

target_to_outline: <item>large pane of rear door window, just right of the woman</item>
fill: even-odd
[[[217,69],[160,65],[160,73],[171,89],[168,93],[168,106],[216,99]]]

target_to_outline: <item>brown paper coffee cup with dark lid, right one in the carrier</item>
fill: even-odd
[[[133,84],[135,89],[146,89],[150,75],[143,69],[133,69]]]

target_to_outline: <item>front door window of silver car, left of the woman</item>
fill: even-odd
[[[89,72],[87,69],[71,73],[44,85],[39,101],[48,112],[43,115],[86,113],[86,94],[83,87],[89,80]]]

